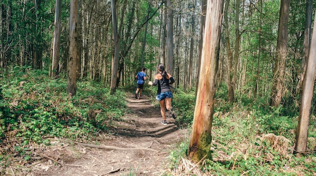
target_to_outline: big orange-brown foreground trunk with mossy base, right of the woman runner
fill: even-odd
[[[188,157],[199,161],[211,158],[212,123],[216,91],[216,79],[222,29],[222,0],[207,2],[205,33],[201,57],[201,72],[189,142]]]

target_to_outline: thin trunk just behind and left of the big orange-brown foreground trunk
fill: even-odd
[[[198,43],[198,64],[197,64],[197,75],[196,75],[196,91],[195,96],[197,94],[198,89],[198,80],[200,75],[200,69],[201,69],[201,56],[202,56],[202,45],[203,45],[203,34],[204,34],[204,26],[205,26],[205,15],[206,15],[206,0],[201,0],[201,26],[200,26],[200,41]]]

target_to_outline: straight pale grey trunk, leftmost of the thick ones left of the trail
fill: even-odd
[[[54,42],[52,46],[52,63],[51,63],[51,77],[59,74],[59,57],[60,57],[60,44],[61,44],[61,13],[62,13],[62,0],[56,0],[55,8],[55,28],[54,28]]]

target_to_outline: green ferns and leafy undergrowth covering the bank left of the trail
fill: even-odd
[[[1,80],[0,144],[17,142],[14,148],[25,160],[32,143],[48,145],[54,137],[89,140],[127,110],[125,93],[110,95],[99,82],[78,80],[77,95],[71,96],[64,75],[51,79],[47,71],[27,67],[15,67],[9,75]],[[9,153],[2,151],[2,166]]]

